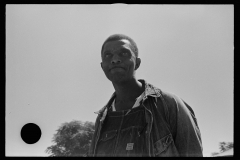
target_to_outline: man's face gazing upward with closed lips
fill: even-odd
[[[140,65],[128,40],[117,40],[105,43],[102,50],[101,67],[106,77],[112,82],[131,80]]]

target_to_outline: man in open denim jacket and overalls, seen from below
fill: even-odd
[[[101,67],[115,92],[98,111],[88,156],[203,156],[191,107],[179,97],[136,79],[136,43],[115,34],[103,43]]]

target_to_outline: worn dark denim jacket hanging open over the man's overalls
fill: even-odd
[[[150,157],[203,156],[201,133],[192,108],[174,94],[139,80],[145,85],[141,105],[145,108],[148,123],[145,132],[146,148]],[[95,156],[97,142],[107,111],[116,94],[100,109],[95,132],[87,156]]]

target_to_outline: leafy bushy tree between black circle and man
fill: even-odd
[[[56,131],[52,139],[55,144],[45,150],[50,157],[83,156],[90,147],[94,123],[73,120],[63,123]]]

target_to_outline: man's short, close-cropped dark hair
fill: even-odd
[[[103,47],[107,42],[110,41],[117,41],[117,40],[122,40],[122,39],[126,39],[130,42],[131,44],[131,49],[133,51],[133,53],[135,54],[136,58],[138,57],[138,48],[137,48],[137,44],[134,42],[134,40],[132,38],[130,38],[129,36],[126,36],[124,34],[113,34],[111,36],[109,36],[103,43],[102,45],[102,50],[101,50],[101,55],[102,55],[102,51],[103,51]]]

